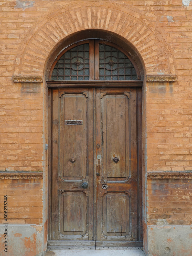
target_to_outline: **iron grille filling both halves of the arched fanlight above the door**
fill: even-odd
[[[90,74],[94,77],[94,68],[90,70],[89,67],[89,61],[94,61],[94,55],[91,56],[88,43],[73,47],[57,61],[51,80],[89,80]],[[90,58],[92,59],[89,60]],[[99,80],[138,79],[130,59],[122,51],[106,44],[99,44],[99,65],[95,66],[95,70],[99,70]]]

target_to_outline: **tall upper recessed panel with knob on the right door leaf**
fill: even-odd
[[[129,99],[127,95],[103,95],[101,114],[103,123],[103,175],[105,178],[112,178],[111,180],[128,177]]]

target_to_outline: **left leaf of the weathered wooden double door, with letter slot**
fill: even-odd
[[[53,240],[93,240],[93,89],[54,93],[58,121],[53,120],[52,125],[58,127],[58,155],[53,152],[52,157],[58,170],[53,170],[57,182],[52,190],[58,191],[56,200],[53,198],[53,205],[58,205],[58,227],[52,226],[52,230],[58,237]]]

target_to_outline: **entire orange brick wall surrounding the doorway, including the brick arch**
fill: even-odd
[[[112,32],[110,40],[131,52],[144,80],[144,234],[146,224],[156,225],[158,219],[164,225],[190,225],[191,180],[150,180],[146,172],[191,171],[192,1],[3,1],[0,8],[0,170],[44,173],[44,179],[0,180],[0,198],[9,196],[10,221],[47,223],[45,80],[63,47],[84,39],[83,30],[97,29],[95,37],[107,39]],[[44,80],[14,83],[12,76],[19,74]],[[146,82],[146,74],[177,75],[177,81]]]

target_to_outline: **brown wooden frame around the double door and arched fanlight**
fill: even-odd
[[[99,59],[94,57],[92,58],[92,61],[90,62],[90,68],[94,69],[95,76],[93,76],[93,73],[90,74],[90,80],[89,81],[51,81],[51,74],[52,70],[58,61],[58,59],[65,54],[69,49],[85,44],[86,42],[89,42],[92,45],[92,50],[90,49],[90,55],[94,55],[94,39],[91,40],[83,40],[80,42],[77,42],[76,44],[70,45],[69,47],[65,48],[55,59],[55,61],[52,64],[52,67],[49,72],[49,80],[47,81],[47,86],[49,88],[49,132],[48,132],[48,143],[49,143],[49,172],[48,172],[48,184],[49,184],[49,191],[48,191],[48,197],[49,197],[49,213],[48,213],[48,239],[50,240],[51,238],[51,182],[52,182],[52,177],[51,177],[51,166],[52,166],[52,124],[51,124],[51,119],[52,119],[52,114],[53,114],[53,109],[52,109],[52,90],[54,88],[78,88],[78,87],[87,87],[87,88],[101,88],[104,86],[105,88],[122,88],[122,87],[128,87],[128,88],[135,88],[136,90],[136,109],[137,109],[137,138],[136,138],[136,147],[137,147],[137,179],[138,179],[138,187],[137,187],[137,193],[138,193],[138,237],[139,240],[142,240],[142,95],[141,95],[141,89],[142,89],[142,84],[143,81],[139,80],[141,79],[140,71],[138,69],[138,66],[134,59],[121,47],[111,43],[107,42],[108,45],[113,46],[120,51],[122,51],[133,63],[135,70],[137,72],[137,77],[139,78],[138,80],[120,80],[120,81],[100,81],[99,80],[99,72],[98,70],[95,69],[95,63],[99,63]],[[102,42],[102,40],[96,40],[96,44],[99,42]],[[94,60],[94,61],[93,61]],[[94,79],[95,78],[95,79]],[[96,151],[95,151],[96,154]],[[95,167],[96,169],[96,167]]]

